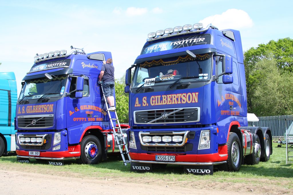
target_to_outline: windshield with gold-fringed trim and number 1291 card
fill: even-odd
[[[205,82],[212,73],[212,54],[177,56],[174,58],[145,61],[137,64],[132,80],[132,88],[144,86],[171,85],[180,82]],[[163,81],[166,82],[156,82]]]

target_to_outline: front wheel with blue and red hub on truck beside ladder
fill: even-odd
[[[88,135],[81,140],[79,163],[96,164],[102,156],[102,146],[100,140],[93,135]]]

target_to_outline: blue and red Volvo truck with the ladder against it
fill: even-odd
[[[16,108],[19,162],[63,165],[63,160],[77,159],[95,164],[119,151],[98,84],[103,61],[112,55],[71,49],[69,54],[37,54],[23,78]]]

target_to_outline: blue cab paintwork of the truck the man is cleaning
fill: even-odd
[[[112,58],[111,52],[99,51],[91,54],[104,54],[105,59]],[[51,148],[46,151],[52,151],[53,140],[54,140],[54,132],[61,131],[62,139],[61,139],[61,148],[57,151],[67,151],[68,144],[79,144],[80,139],[84,133],[84,130],[93,125],[100,126],[103,130],[110,129],[110,122],[108,114],[106,113],[105,101],[103,99],[103,94],[101,92],[100,86],[98,85],[98,75],[100,74],[102,61],[90,60],[87,58],[89,54],[71,54],[65,58],[58,58],[53,60],[45,61],[46,63],[56,61],[56,60],[64,60],[70,59],[71,63],[69,68],[73,69],[73,75],[80,76],[85,75],[89,78],[89,95],[82,97],[81,99],[71,98],[69,96],[65,96],[65,93],[69,93],[69,87],[71,84],[71,79],[67,78],[67,84],[64,89],[64,94],[61,98],[56,101],[48,102],[48,103],[34,103],[34,104],[25,104],[25,105],[17,105],[16,108],[16,125],[17,125],[17,117],[21,115],[32,115],[32,114],[54,114],[54,123],[53,127],[47,129],[34,129],[34,131],[30,130],[30,132],[21,132],[21,134],[52,134],[52,143]],[[40,63],[35,63],[33,65],[37,66]],[[51,70],[41,70],[35,73],[28,73],[26,76],[31,75],[39,75],[40,77],[44,77],[45,73],[56,72],[57,70],[63,70],[64,68],[56,68]],[[115,95],[114,95],[115,97]],[[39,105],[52,105],[53,109],[51,112],[38,112],[38,113],[28,113],[30,112],[29,108],[33,109],[34,106]],[[86,107],[83,107],[86,106]],[[95,109],[92,109],[96,106]],[[24,112],[22,112],[24,110]],[[91,119],[87,117],[87,111],[93,112],[92,118],[100,118],[100,121],[90,121]],[[102,112],[105,112],[104,115]],[[114,114],[115,113],[111,113]],[[114,115],[111,115],[114,118]],[[77,118],[80,118],[77,119]],[[25,130],[18,126],[16,126],[17,130]],[[48,132],[43,132],[46,130]],[[32,149],[25,150],[20,146],[20,150],[24,151],[34,151]],[[40,151],[40,149],[35,150]],[[42,150],[44,151],[44,150]],[[55,150],[56,151],[56,150]]]

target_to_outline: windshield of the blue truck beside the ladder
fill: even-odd
[[[42,96],[62,96],[65,90],[66,81],[67,75],[53,76],[52,80],[49,80],[46,77],[26,80],[19,99],[23,99],[25,96],[28,96],[27,99],[36,99],[41,98]]]

